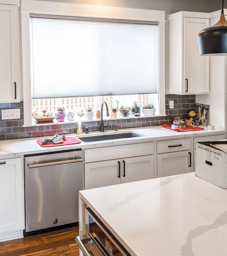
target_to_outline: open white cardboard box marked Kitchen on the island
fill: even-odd
[[[227,188],[227,141],[196,143],[196,176]]]

